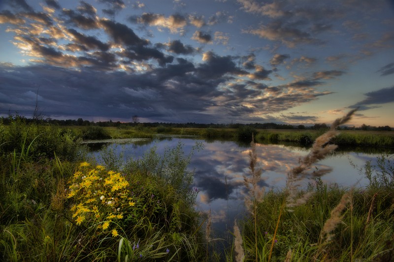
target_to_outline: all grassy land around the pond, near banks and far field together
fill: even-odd
[[[393,132],[70,128],[11,118],[0,123],[1,261],[394,259],[393,156],[382,154],[376,166],[368,161],[357,167],[368,178],[364,188],[323,184],[320,177],[329,170],[313,168],[332,153],[332,143],[393,146]],[[236,222],[230,248],[218,253],[215,247],[224,240],[212,239],[209,215],[194,208],[198,190],[190,188],[193,172],[187,169],[193,151],[185,155],[179,145],[161,156],[152,149],[126,163],[106,151],[98,163],[81,144],[157,133],[250,141],[255,134],[256,141],[315,143],[281,191],[258,186],[262,174],[251,144],[244,177],[248,212]],[[301,178],[310,178],[307,189],[297,187]]]

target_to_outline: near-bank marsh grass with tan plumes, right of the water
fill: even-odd
[[[332,126],[349,120],[352,113],[337,119]],[[245,220],[237,223],[241,235],[236,233],[237,225],[234,226],[235,239],[228,260],[234,256],[236,261],[390,261],[387,259],[394,258],[392,157],[383,155],[377,159],[376,166],[367,162],[361,169],[370,181],[366,190],[327,185],[320,176],[329,170],[309,171],[313,170],[313,163],[335,149],[328,143],[336,135],[334,128],[317,138],[311,152],[292,170],[287,190],[265,192],[254,210],[245,201],[249,212]],[[251,147],[253,155],[253,143]],[[312,182],[307,189],[300,189],[299,181],[307,177],[312,177]],[[252,197],[255,194],[253,190],[249,193]],[[244,259],[240,256],[241,247]]]

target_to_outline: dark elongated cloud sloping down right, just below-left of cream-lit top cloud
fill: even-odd
[[[125,44],[127,46],[148,44],[148,40],[141,39],[131,28],[124,24],[107,19],[101,19],[99,24],[117,44]]]

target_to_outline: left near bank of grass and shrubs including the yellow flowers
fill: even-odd
[[[97,163],[73,131],[19,118],[0,129],[1,261],[204,260],[193,152]]]

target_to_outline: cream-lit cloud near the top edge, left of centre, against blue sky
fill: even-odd
[[[172,33],[177,33],[187,26],[187,20],[180,14],[165,17],[162,14],[143,13],[141,16],[131,16],[129,21],[132,23],[140,23],[147,26],[155,26],[158,28],[169,29]]]

